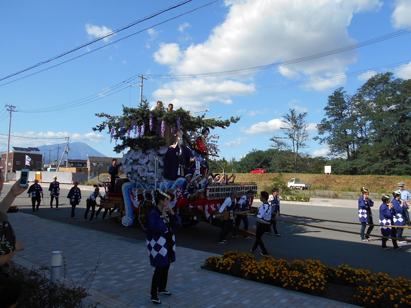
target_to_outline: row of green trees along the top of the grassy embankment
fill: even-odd
[[[273,136],[267,150],[253,149],[244,158],[218,161],[225,170],[319,174],[331,165],[340,175],[408,175],[411,173],[411,80],[386,72],[372,76],[355,93],[338,88],[329,95],[325,117],[313,139],[328,145],[328,157],[311,157],[307,147],[307,113],[283,115],[284,136]],[[210,164],[213,172],[221,169]]]

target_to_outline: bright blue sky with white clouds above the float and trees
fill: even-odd
[[[315,137],[335,89],[352,94],[376,72],[411,78],[409,0],[212,2],[194,0],[165,12],[178,2],[1,2],[0,149],[7,149],[5,106],[14,105],[11,134],[24,138],[11,137],[10,146],[69,137],[118,157],[109,134],[92,131],[102,121],[95,113],[120,115],[122,105],[139,106],[140,87],[129,85],[139,85],[142,74],[150,105],[162,100],[174,108],[210,109],[206,117],[241,116],[228,129],[212,131],[220,136],[220,157],[239,160],[252,149],[270,148],[290,108],[308,113]],[[391,33],[397,34],[384,37]],[[379,42],[361,44],[375,38]],[[365,46],[295,61],[354,44]],[[238,71],[255,67],[262,68]],[[226,71],[234,73],[200,75]],[[309,155],[327,153],[326,145],[308,145]]]

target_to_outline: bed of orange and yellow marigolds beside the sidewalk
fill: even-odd
[[[222,257],[207,258],[204,268],[315,296],[324,294],[327,283],[356,287],[353,302],[364,307],[411,306],[411,280],[394,279],[383,273],[371,274],[368,270],[354,269],[347,264],[335,269],[319,260],[294,260],[289,263],[270,256],[257,262],[251,253],[230,251]]]

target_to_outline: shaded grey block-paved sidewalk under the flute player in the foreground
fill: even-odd
[[[62,251],[66,278],[82,282],[100,260],[89,300],[99,302],[99,308],[154,307],[149,302],[153,267],[145,241],[24,213],[8,216],[16,237],[26,247],[13,258],[15,263],[27,267],[49,265],[51,252]],[[215,254],[179,247],[178,238],[176,254],[167,286],[173,296],[160,298],[166,307],[356,307],[205,271],[200,265]]]

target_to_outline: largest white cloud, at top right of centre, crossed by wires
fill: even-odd
[[[163,43],[154,53],[155,61],[169,66],[171,73],[196,74],[300,59],[357,43],[347,31],[353,15],[378,10],[382,2],[230,0],[225,5],[229,10],[226,19],[212,30],[206,41],[185,49],[177,43]],[[334,89],[345,84],[345,71],[357,61],[357,52],[352,50],[282,66],[274,73],[299,81],[315,81],[304,86],[307,90]],[[246,85],[253,82],[255,74],[231,74],[229,78]],[[336,74],[341,74],[341,78],[327,80]],[[225,78],[219,76],[204,83],[219,83]],[[182,85],[185,83],[182,81]]]

